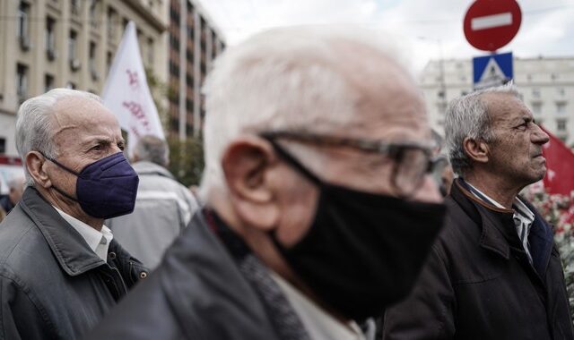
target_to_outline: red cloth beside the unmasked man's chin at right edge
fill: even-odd
[[[542,148],[546,158],[544,190],[551,195],[570,196],[570,191],[574,191],[574,153],[552,133],[543,130],[550,136]]]

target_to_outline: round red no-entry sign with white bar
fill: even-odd
[[[521,21],[515,0],[476,0],[466,11],[465,37],[478,49],[495,51],[517,35]]]

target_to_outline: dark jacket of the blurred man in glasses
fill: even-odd
[[[87,339],[274,340],[257,292],[198,211],[160,266]]]

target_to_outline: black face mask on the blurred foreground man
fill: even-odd
[[[320,191],[315,219],[300,242],[285,248],[272,234],[313,293],[355,320],[376,317],[410,293],[446,207],[325,183],[270,141]]]

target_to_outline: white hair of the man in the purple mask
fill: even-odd
[[[52,116],[56,114],[57,102],[65,98],[87,98],[101,103],[101,98],[75,89],[51,89],[22,103],[16,118],[16,149],[22,158],[26,186],[34,185],[26,167],[26,155],[39,151],[47,157],[56,158],[58,150],[54,144]]]

